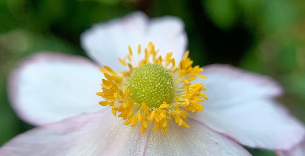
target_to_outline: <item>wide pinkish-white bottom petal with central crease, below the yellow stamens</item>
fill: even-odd
[[[20,134],[0,155],[249,155],[239,144],[204,125],[170,125],[165,135],[124,126],[110,111],[79,115]]]

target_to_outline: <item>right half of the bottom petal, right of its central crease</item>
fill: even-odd
[[[178,127],[173,120],[165,135],[149,132],[144,155],[251,155],[243,147],[206,125],[185,119],[190,129]]]

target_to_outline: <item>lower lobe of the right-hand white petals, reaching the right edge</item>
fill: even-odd
[[[243,145],[286,150],[301,141],[304,128],[277,107],[272,100],[253,100],[232,107],[205,109],[192,118]]]

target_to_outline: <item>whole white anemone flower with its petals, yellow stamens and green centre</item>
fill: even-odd
[[[304,136],[271,78],[192,66],[176,17],[135,12],[94,25],[81,42],[95,62],[38,53],[13,71],[12,107],[38,127],[0,155],[250,155],[242,145],[285,151]]]

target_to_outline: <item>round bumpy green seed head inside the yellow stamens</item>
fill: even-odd
[[[169,103],[174,94],[174,82],[166,68],[159,64],[145,64],[130,76],[128,88],[137,103],[148,107],[159,107],[163,101]]]

